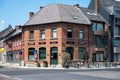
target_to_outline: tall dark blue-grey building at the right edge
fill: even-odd
[[[100,13],[109,24],[111,61],[120,62],[120,1],[91,0],[88,8]]]

